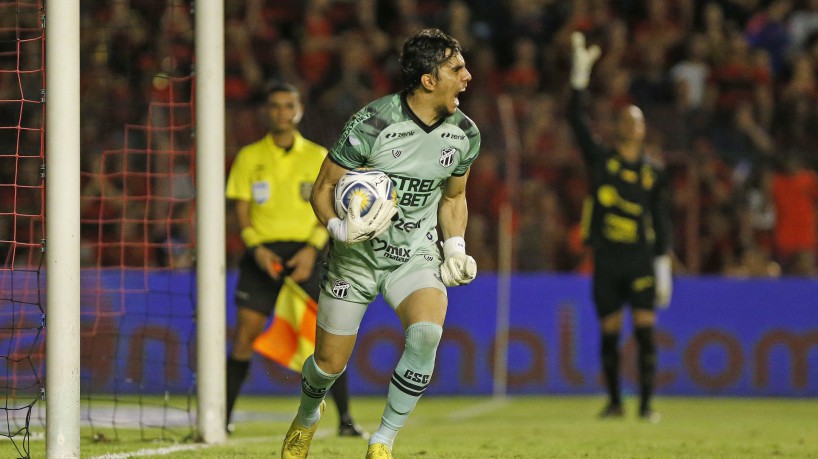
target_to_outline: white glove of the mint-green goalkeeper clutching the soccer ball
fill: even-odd
[[[327,231],[333,239],[352,244],[372,239],[383,233],[392,224],[392,217],[398,212],[391,199],[378,198],[366,215],[361,215],[360,196],[353,196],[349,201],[347,216],[343,220],[331,218]]]

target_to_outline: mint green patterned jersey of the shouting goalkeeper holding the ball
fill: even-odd
[[[480,132],[460,110],[433,126],[420,121],[401,94],[370,103],[347,122],[329,153],[347,169],[383,171],[395,184],[398,215],[371,241],[333,241],[332,256],[346,263],[389,268],[437,241],[437,206],[443,183],[463,176],[480,151]],[[357,260],[357,261],[354,261]]]

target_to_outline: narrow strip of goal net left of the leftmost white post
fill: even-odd
[[[44,391],[41,2],[0,1],[0,455],[28,457]]]

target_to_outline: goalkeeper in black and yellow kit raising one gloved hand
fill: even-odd
[[[583,229],[594,259],[593,297],[601,327],[601,360],[608,403],[603,417],[622,416],[619,338],[625,303],[632,308],[638,345],[639,416],[656,422],[651,407],[656,379],[655,305],[667,306],[671,294],[668,181],[662,167],[642,148],[645,119],[633,105],[617,113],[613,146],[598,142],[585,113],[597,46],[572,35],[569,121],[588,168],[591,196],[583,211]]]

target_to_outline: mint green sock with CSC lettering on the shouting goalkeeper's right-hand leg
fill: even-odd
[[[389,394],[381,417],[381,426],[369,444],[384,443],[390,448],[398,431],[415,409],[420,396],[432,379],[435,354],[443,327],[432,322],[418,322],[406,328],[406,345],[392,374]]]

